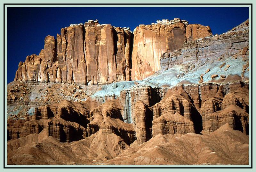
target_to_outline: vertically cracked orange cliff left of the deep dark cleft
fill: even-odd
[[[129,28],[85,24],[62,28],[47,36],[37,56],[20,62],[16,81],[105,84],[130,80],[133,34]]]

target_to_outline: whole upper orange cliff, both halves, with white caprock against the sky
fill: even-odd
[[[19,63],[15,81],[106,84],[141,80],[160,69],[165,52],[187,40],[211,36],[209,26],[175,18],[128,28],[100,25],[98,20],[70,25],[46,36],[39,55]]]

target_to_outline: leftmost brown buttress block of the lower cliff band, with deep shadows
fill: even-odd
[[[20,120],[15,122],[14,126],[19,124],[18,130],[16,127],[7,127],[8,138],[17,139],[47,129],[49,136],[61,142],[80,140],[88,135],[86,128],[90,122],[90,108],[97,104],[90,100],[84,103],[64,100],[60,104],[36,107],[31,120],[23,119],[22,122]],[[13,121],[9,120],[7,123]]]

